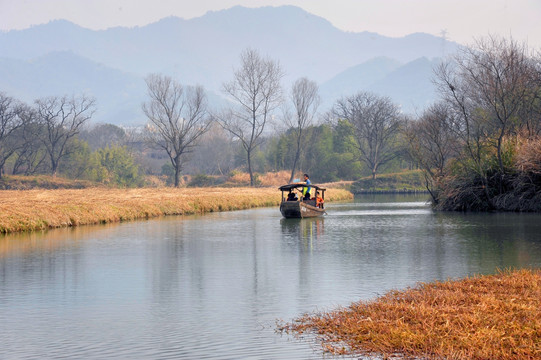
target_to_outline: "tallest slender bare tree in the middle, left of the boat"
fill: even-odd
[[[280,80],[284,76],[278,62],[262,58],[256,50],[241,54],[240,69],[234,79],[223,85],[223,91],[234,105],[219,116],[220,124],[242,144],[254,186],[252,155],[260,144],[261,134],[273,111],[282,102]]]

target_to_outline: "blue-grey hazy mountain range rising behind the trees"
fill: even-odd
[[[286,88],[302,76],[318,82],[322,110],[367,90],[413,112],[435,99],[432,67],[458,44],[422,33],[390,38],[344,32],[293,6],[237,6],[190,20],[169,17],[99,31],[56,20],[0,34],[0,91],[27,102],[84,92],[97,98],[95,121],[141,125],[148,74],[203,85],[218,103],[221,85],[232,79],[247,47],[280,62]]]

